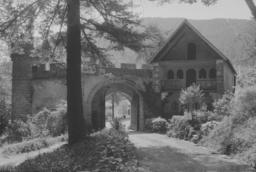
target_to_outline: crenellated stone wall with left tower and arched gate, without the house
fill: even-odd
[[[33,45],[26,44],[24,54],[12,54],[12,119],[26,120],[44,107],[52,108],[67,98],[66,70],[59,64],[33,66],[38,59],[30,57]],[[112,77],[82,74],[84,119],[95,129],[105,126],[105,100],[115,93],[122,93],[131,102],[131,128],[142,129],[146,105],[140,91],[143,82],[152,81],[150,65],[121,64],[121,68],[106,68]]]

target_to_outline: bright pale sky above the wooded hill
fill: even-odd
[[[256,4],[256,0],[253,0]],[[244,0],[218,0],[216,4],[205,6],[198,0],[196,4],[178,3],[175,0],[172,4],[157,6],[156,2],[138,0],[140,8],[136,12],[142,12],[141,17],[180,17],[186,19],[250,19],[252,14]],[[143,6],[143,7],[142,7]]]

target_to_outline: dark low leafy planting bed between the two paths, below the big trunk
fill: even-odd
[[[53,152],[39,154],[10,169],[75,172],[95,170],[95,165],[98,164],[97,168],[105,169],[106,172],[113,169],[123,172],[138,171],[136,150],[127,137],[124,130],[102,129],[80,143],[63,145]],[[104,167],[101,168],[101,165]],[[6,168],[0,168],[0,171],[3,169]]]

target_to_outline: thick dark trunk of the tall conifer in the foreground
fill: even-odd
[[[67,0],[68,143],[83,139],[85,121],[81,84],[80,2]]]

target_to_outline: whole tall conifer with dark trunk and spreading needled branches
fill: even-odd
[[[67,55],[67,104],[69,143],[85,134],[81,89],[82,57],[90,65],[105,66],[107,50],[128,47],[139,51],[147,35],[134,27],[140,25],[135,5],[130,0],[3,0],[0,2],[0,39],[11,44],[33,41],[34,33],[42,42],[34,56],[56,61]],[[57,29],[56,29],[57,28]],[[56,31],[57,30],[57,31]],[[108,47],[98,47],[104,38]]]

